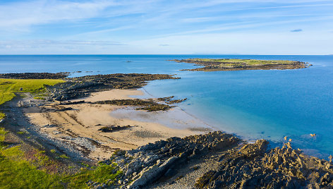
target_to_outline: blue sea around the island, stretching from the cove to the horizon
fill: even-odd
[[[310,68],[270,71],[179,71],[195,68],[169,59],[276,59],[312,63]],[[260,55],[73,55],[0,56],[0,73],[75,72],[168,73],[181,80],[156,80],[145,86],[155,97],[175,95],[180,104],[215,128],[248,140],[265,138],[272,146],[284,136],[293,147],[327,159],[333,154],[333,56]],[[86,72],[88,71],[88,72]],[[316,137],[310,137],[315,133]]]

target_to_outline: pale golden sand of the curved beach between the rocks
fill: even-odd
[[[85,102],[109,99],[132,99],[143,95],[140,90],[109,90],[93,93]],[[83,99],[76,99],[80,101]],[[74,100],[73,100],[74,101]],[[73,102],[72,101],[72,102]],[[71,107],[73,109],[59,111]],[[109,104],[58,103],[28,107],[25,114],[42,133],[76,147],[90,159],[107,159],[117,149],[131,150],[149,142],[171,137],[185,137],[207,133],[211,128],[179,108],[169,111],[137,111],[131,106]],[[104,126],[131,126],[125,130],[103,133]]]

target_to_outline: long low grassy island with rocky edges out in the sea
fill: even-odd
[[[197,66],[205,66],[182,71],[286,70],[312,66],[310,63],[301,61],[264,61],[254,59],[175,59],[170,61],[195,63]]]

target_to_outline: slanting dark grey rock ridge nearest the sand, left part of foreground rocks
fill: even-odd
[[[157,181],[173,167],[180,166],[185,161],[199,158],[207,152],[231,147],[239,141],[234,135],[221,131],[186,138],[169,138],[135,150],[118,151],[103,163],[115,162],[123,170],[121,187],[140,188]]]

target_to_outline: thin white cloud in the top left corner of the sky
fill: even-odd
[[[61,20],[93,18],[114,1],[23,1],[0,6],[0,28],[2,30],[28,30],[31,25],[55,23]]]

